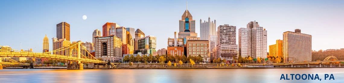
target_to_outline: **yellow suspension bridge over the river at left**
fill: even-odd
[[[63,54],[63,55],[58,55]],[[106,64],[105,61],[100,61],[96,59],[92,54],[90,54],[85,46],[81,45],[81,41],[77,43],[73,43],[62,48],[43,52],[43,53],[36,53],[36,52],[25,52],[20,50],[15,50],[12,48],[4,47],[0,45],[0,57],[36,57],[36,58],[45,58],[45,59],[54,59],[54,60],[65,60],[70,61],[70,63],[77,62],[80,65],[80,69],[83,69],[83,63],[96,63],[96,64]],[[2,60],[0,60],[2,62]],[[0,63],[0,67],[2,69],[2,65],[6,65],[10,63]],[[14,63],[13,63],[14,64]]]

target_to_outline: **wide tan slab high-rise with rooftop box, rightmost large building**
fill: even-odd
[[[312,60],[312,35],[295,32],[283,33],[283,57],[285,63],[311,62]]]

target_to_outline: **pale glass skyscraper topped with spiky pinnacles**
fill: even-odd
[[[201,40],[209,40],[209,55],[210,55],[210,61],[213,60],[214,57],[214,49],[216,48],[216,40],[217,40],[217,34],[216,34],[216,20],[210,21],[210,17],[208,17],[208,21],[202,22],[202,19],[200,20],[200,35]]]

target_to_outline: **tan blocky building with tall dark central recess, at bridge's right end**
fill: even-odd
[[[114,35],[95,37],[95,56],[112,63],[122,62],[122,40]]]

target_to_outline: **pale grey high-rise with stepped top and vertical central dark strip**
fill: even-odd
[[[258,22],[251,21],[247,28],[239,29],[239,55],[253,59],[267,57],[267,31]]]

